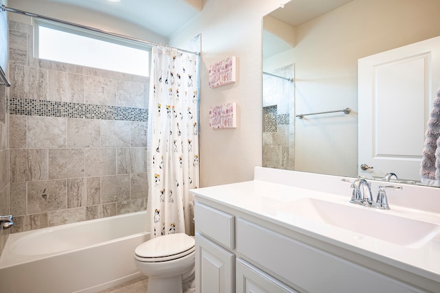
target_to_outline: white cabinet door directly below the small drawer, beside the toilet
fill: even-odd
[[[195,235],[195,278],[197,293],[234,292],[234,254]]]

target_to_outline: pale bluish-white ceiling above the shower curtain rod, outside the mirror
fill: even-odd
[[[199,14],[199,10],[184,0],[45,0],[47,2],[94,10],[118,17],[169,38],[180,27]]]

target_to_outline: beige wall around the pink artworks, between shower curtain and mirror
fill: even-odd
[[[261,165],[261,20],[278,8],[276,0],[208,0],[189,25],[170,38],[179,46],[201,33],[201,186],[252,180],[254,166]],[[210,89],[208,68],[214,62],[236,56],[237,81]],[[236,102],[237,128],[209,128],[209,107]]]

